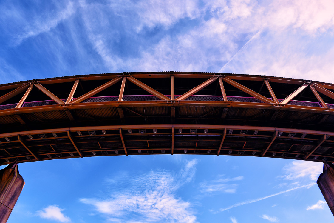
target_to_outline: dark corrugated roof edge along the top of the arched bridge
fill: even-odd
[[[155,72],[118,72],[118,73],[103,73],[103,74],[80,74],[80,75],[72,75],[72,76],[62,76],[62,77],[52,77],[52,78],[43,78],[43,79],[32,79],[27,81],[19,81],[19,82],[11,82],[6,84],[1,84],[1,86],[8,86],[8,85],[14,85],[14,84],[20,84],[20,83],[29,83],[32,81],[45,81],[45,80],[57,80],[57,79],[63,79],[63,78],[80,78],[80,77],[87,77],[87,76],[94,76],[94,75],[119,75],[119,74],[170,74],[170,73],[177,73],[177,74],[221,74],[221,75],[240,75],[240,76],[253,76],[253,77],[260,77],[260,78],[280,78],[280,79],[288,79],[288,80],[298,80],[298,81],[312,81],[312,80],[306,80],[306,79],[298,79],[298,78],[286,78],[286,77],[278,77],[278,76],[268,76],[268,75],[254,75],[254,74],[232,74],[232,73],[219,73],[219,72],[183,72],[183,71],[155,71]],[[333,83],[327,83],[327,82],[320,82],[320,81],[312,81],[315,83],[320,84],[330,84],[334,85]]]

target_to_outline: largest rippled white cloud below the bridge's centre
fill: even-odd
[[[109,198],[82,198],[80,201],[93,205],[96,211],[113,222],[196,222],[191,203],[176,198],[179,187],[194,177],[197,161],[191,160],[179,174],[151,171],[137,178],[124,176],[114,182]],[[120,189],[119,185],[124,185]],[[133,213],[129,217],[126,213]],[[134,219],[132,219],[134,218]]]

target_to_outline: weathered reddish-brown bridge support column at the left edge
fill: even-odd
[[[7,222],[24,186],[17,163],[0,170],[0,222]]]

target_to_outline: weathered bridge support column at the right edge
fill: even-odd
[[[333,163],[325,162],[324,171],[320,174],[317,184],[324,196],[329,209],[334,216],[334,165]]]

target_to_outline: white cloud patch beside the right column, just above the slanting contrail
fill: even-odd
[[[286,180],[296,180],[298,178],[308,177],[316,181],[323,171],[323,163],[304,160],[295,160],[284,166]]]

